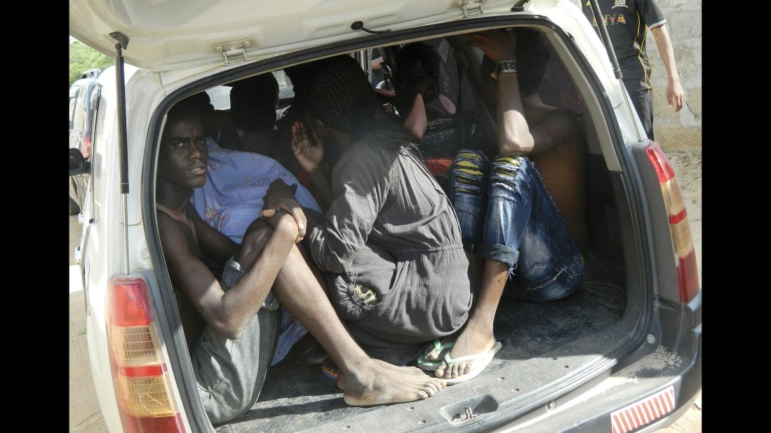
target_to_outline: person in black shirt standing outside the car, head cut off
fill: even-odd
[[[583,0],[582,0],[583,1]],[[667,102],[675,112],[685,103],[685,92],[675,65],[675,51],[665,28],[667,20],[653,0],[598,0],[602,20],[608,28],[618,65],[624,74],[624,86],[629,92],[642,126],[653,139],[653,65],[645,53],[645,36],[651,29],[658,52],[667,69]],[[584,2],[584,15],[597,27],[589,0]]]

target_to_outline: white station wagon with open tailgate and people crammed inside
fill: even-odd
[[[465,45],[467,34],[520,26],[545,35],[553,67],[567,77],[553,86],[580,99],[591,281],[557,304],[502,302],[504,348],[479,377],[432,398],[350,407],[318,366],[278,364],[251,411],[211,425],[157,230],[157,157],[170,107],[338,54],[371,74],[372,48],[387,57],[389,48],[440,38],[466,53],[465,79],[478,82],[481,55]],[[89,163],[70,150],[71,175],[90,174],[80,265],[93,381],[110,431],[654,431],[689,408],[702,381],[702,301],[685,205],[608,51],[572,2],[72,0],[69,29],[113,57],[124,42],[123,79],[120,65],[97,79]]]

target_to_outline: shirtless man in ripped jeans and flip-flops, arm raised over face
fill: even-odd
[[[485,53],[483,92],[497,114],[499,155],[491,163],[463,149],[450,169],[464,247],[472,267],[483,264],[481,275],[470,272],[479,287],[463,331],[452,344],[426,348],[426,359],[441,361],[436,377],[446,379],[479,374],[500,348],[493,319],[502,295],[547,302],[572,294],[588,237],[581,129],[571,111],[537,94],[549,53],[544,36],[493,30],[468,43]]]

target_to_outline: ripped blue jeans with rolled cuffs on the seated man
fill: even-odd
[[[509,266],[503,296],[547,302],[572,294],[584,258],[526,156],[462,149],[449,172],[463,247]]]

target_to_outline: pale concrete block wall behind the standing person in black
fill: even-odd
[[[702,150],[702,0],[655,0],[667,18],[675,49],[685,106],[673,112],[667,105],[667,71],[648,32],[645,50],[653,62],[653,130],[667,152]],[[586,0],[573,0],[581,7]]]

